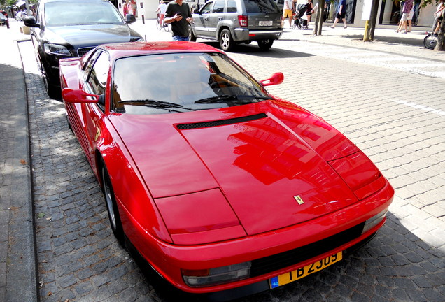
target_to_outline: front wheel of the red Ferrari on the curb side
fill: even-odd
[[[122,222],[120,221],[119,209],[118,205],[116,204],[113,185],[111,185],[110,175],[108,175],[108,171],[103,160],[101,161],[101,179],[103,185],[102,192],[104,193],[111,230],[113,231],[116,239],[118,239],[118,242],[122,246],[125,246],[124,229],[122,228]]]

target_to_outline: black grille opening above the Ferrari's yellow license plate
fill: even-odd
[[[253,260],[252,267],[250,268],[250,277],[271,273],[281,268],[317,257],[330,250],[334,250],[334,248],[360,237],[364,226],[365,222],[315,243],[297,247],[294,250],[288,250],[287,252],[282,252],[280,254]]]

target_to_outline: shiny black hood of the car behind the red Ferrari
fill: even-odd
[[[76,49],[105,43],[130,42],[140,37],[127,24],[93,24],[45,28],[45,38],[48,42],[62,45],[68,43]]]

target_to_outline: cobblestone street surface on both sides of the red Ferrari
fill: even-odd
[[[344,132],[396,189],[388,221],[353,256],[240,301],[444,301],[444,80],[318,57],[299,48],[229,55],[269,91]],[[104,199],[62,103],[43,92],[30,43],[20,43],[29,101],[41,301],[179,301],[153,286],[118,245]],[[428,89],[425,89],[428,87]]]

